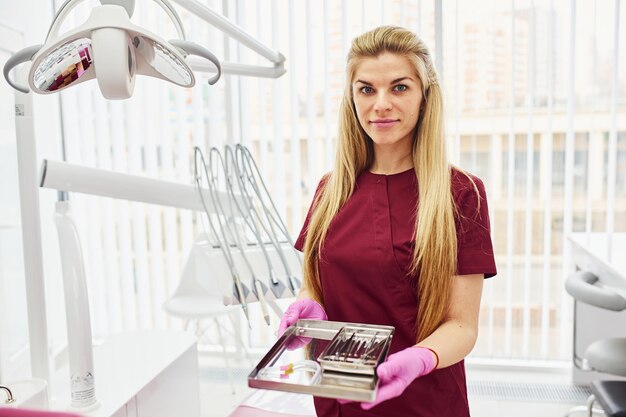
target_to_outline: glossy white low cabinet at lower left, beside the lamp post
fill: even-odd
[[[92,417],[199,417],[196,339],[171,330],[121,333],[94,346]],[[67,410],[69,370],[54,373],[51,408]],[[73,410],[80,411],[80,410]]]

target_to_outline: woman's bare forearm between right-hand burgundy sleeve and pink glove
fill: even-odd
[[[450,308],[445,321],[417,344],[437,352],[437,368],[445,368],[465,358],[474,348],[478,336],[484,275],[457,275],[452,279]]]

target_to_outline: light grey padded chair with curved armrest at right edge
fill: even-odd
[[[565,289],[577,302],[604,308],[610,311],[626,310],[626,298],[596,285],[598,277],[588,271],[577,271],[565,282]],[[597,371],[626,377],[626,338],[607,338],[593,342],[581,359],[576,353],[574,340],[574,365],[582,370]],[[598,403],[608,417],[626,417],[626,380],[600,381],[591,383],[591,396],[586,406],[574,407],[567,414],[585,410],[592,416],[593,406]]]

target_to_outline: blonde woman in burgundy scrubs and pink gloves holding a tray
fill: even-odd
[[[379,27],[352,42],[334,170],[296,247],[304,285],[281,320],[395,326],[372,403],[315,398],[317,415],[469,415],[463,358],[483,279],[496,274],[482,182],[446,157],[442,93],[413,33]]]

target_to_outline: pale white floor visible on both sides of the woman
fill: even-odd
[[[217,358],[200,360],[202,417],[226,417],[256,390],[247,387],[247,375],[254,364],[231,360],[234,392],[224,362]],[[562,417],[582,405],[588,391],[570,383],[567,369],[494,370],[484,365],[467,366],[468,393],[472,416],[479,417]],[[579,417],[584,413],[574,413]]]

